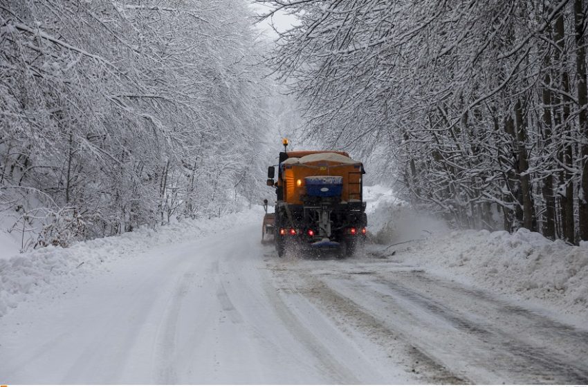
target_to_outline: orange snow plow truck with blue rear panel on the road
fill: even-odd
[[[280,257],[290,251],[352,256],[367,226],[363,164],[343,151],[288,151],[288,140],[283,144],[279,164],[268,167],[277,200],[275,213],[264,217],[262,239],[273,232]]]

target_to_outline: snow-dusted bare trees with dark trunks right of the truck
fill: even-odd
[[[459,227],[588,240],[585,0],[257,0],[304,135]]]

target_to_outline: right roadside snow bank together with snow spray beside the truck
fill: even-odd
[[[396,252],[396,259],[430,272],[588,321],[587,242],[573,246],[524,228],[513,234],[451,231],[387,187],[367,187],[365,196],[371,201],[369,231],[386,246],[385,254]]]

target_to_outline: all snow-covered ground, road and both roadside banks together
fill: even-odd
[[[451,231],[367,187],[344,261],[277,258],[260,207],[0,260],[9,384],[585,384],[588,246]]]

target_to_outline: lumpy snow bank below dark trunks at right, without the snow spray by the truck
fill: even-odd
[[[588,319],[588,243],[571,246],[528,229],[466,230],[429,238],[398,251],[398,258]]]

